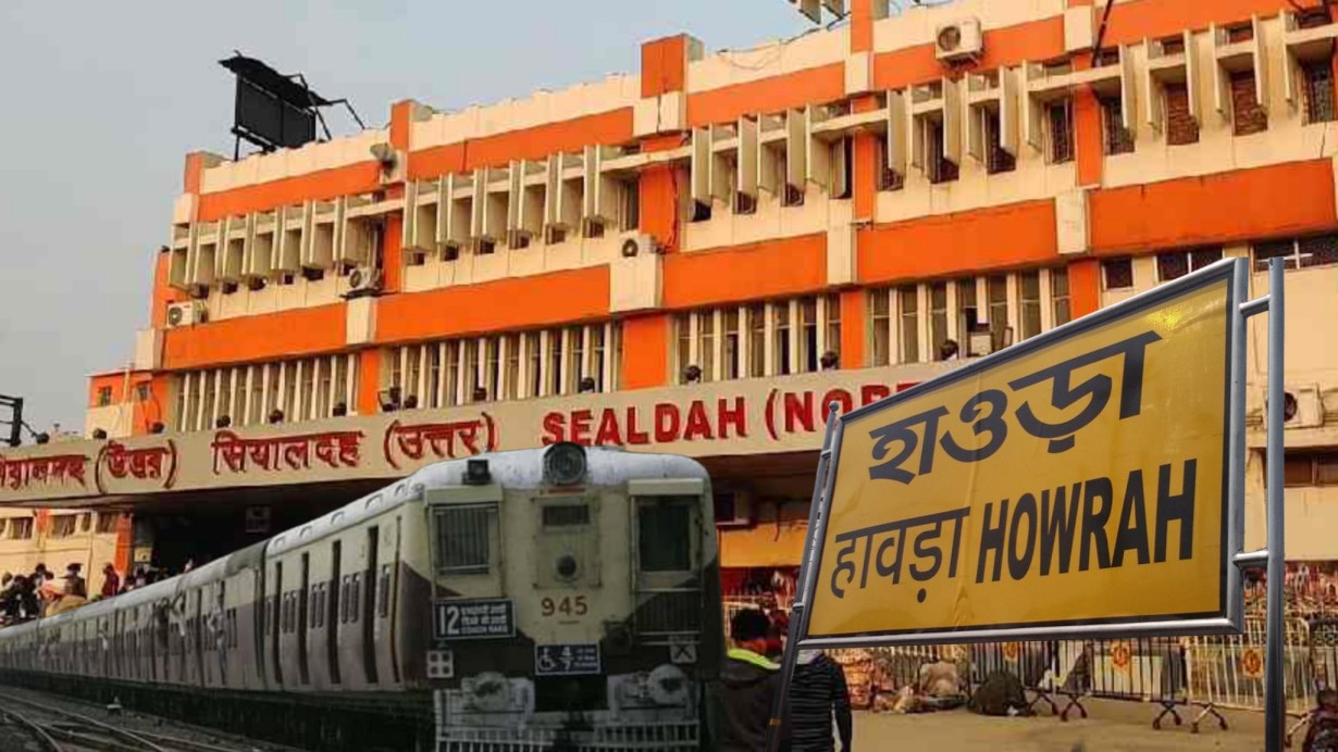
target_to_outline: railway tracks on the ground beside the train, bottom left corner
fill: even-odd
[[[249,752],[250,749],[131,731],[66,708],[4,692],[0,692],[0,716],[25,731],[37,741],[39,749],[45,752]]]

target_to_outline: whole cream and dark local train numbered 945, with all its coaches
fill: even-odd
[[[557,443],[0,629],[0,679],[318,749],[696,751],[721,621],[701,465]]]

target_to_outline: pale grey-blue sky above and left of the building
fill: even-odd
[[[183,155],[231,155],[233,49],[380,126],[399,99],[460,108],[633,72],[660,36],[713,51],[808,28],[785,0],[0,0],[0,394],[37,430],[83,429],[88,374],[147,326]]]

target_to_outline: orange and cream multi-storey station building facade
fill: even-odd
[[[704,458],[723,565],[793,565],[823,403],[951,367],[949,339],[981,354],[1282,255],[1288,554],[1338,558],[1338,24],[1287,0],[850,11],[744,52],[650,41],[636,75],[495,106],[400,102],[329,143],[189,155],[135,367],[90,385],[86,434],[108,438],[4,451],[0,502],[392,478],[573,439]]]

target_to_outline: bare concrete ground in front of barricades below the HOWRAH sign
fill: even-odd
[[[987,717],[965,709],[945,713],[899,716],[855,713],[855,752],[951,749],[954,752],[1171,752],[1263,749],[1260,713],[1227,713],[1228,729],[1206,721],[1200,733],[1189,723],[1198,708],[1180,708],[1184,725],[1169,717],[1160,731],[1152,728],[1153,705],[1141,703],[1085,703],[1089,717],[1060,721],[1049,715],[1021,719]],[[1287,727],[1295,723],[1288,719]],[[1301,748],[1303,731],[1294,749]]]

